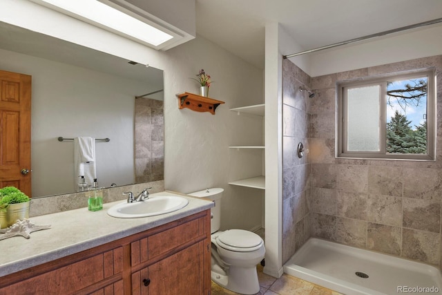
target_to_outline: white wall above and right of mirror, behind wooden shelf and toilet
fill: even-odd
[[[238,145],[236,140],[247,142],[254,135],[263,141],[262,124],[229,111],[263,102],[262,70],[202,37],[159,52],[29,1],[2,1],[0,21],[164,70],[165,188],[189,193],[222,187],[222,229],[261,225],[263,192],[231,187],[227,182],[235,180],[233,174],[247,178],[262,171],[262,155],[238,157],[229,149],[229,145]],[[190,78],[200,68],[213,78],[210,97],[226,102],[217,108],[216,115],[178,110],[175,95],[196,93],[198,85]],[[244,164],[236,164],[238,159]]]

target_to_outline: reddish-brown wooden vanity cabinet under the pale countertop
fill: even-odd
[[[0,278],[0,294],[210,294],[210,210]]]

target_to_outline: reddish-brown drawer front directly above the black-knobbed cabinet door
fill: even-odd
[[[204,218],[182,223],[131,243],[131,265],[138,265],[204,235]],[[195,240],[197,242],[197,240]]]

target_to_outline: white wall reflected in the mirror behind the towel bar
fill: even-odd
[[[134,97],[148,85],[0,50],[0,69],[32,76],[32,196],[76,191],[73,142],[57,137],[111,138],[97,142],[99,185],[134,182]],[[153,86],[152,86],[153,87]]]

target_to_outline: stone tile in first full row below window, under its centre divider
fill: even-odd
[[[368,191],[378,195],[402,196],[402,169],[390,166],[369,166]]]

